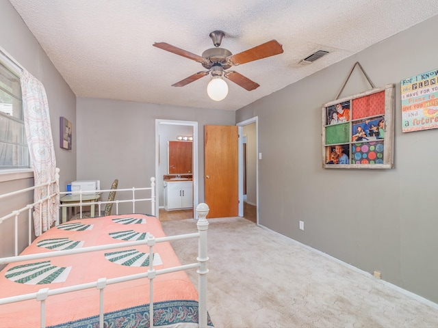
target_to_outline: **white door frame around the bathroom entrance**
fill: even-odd
[[[180,120],[161,120],[155,119],[155,182],[158,181],[158,167],[159,167],[159,126],[160,125],[184,125],[192,126],[193,128],[193,216],[196,218],[196,206],[198,206],[198,122],[194,121],[180,121]],[[157,193],[155,194],[155,216],[159,218],[159,200]]]

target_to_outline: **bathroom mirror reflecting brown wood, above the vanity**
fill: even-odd
[[[192,141],[168,141],[168,174],[192,174]]]

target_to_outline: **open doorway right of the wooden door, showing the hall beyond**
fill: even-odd
[[[259,224],[258,118],[237,123],[239,127],[239,216]]]

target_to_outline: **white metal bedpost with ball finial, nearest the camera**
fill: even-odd
[[[198,213],[198,232],[199,232],[199,242],[198,242],[198,263],[199,269],[197,271],[199,275],[199,327],[207,327],[207,230],[208,221],[207,214],[209,212],[209,207],[205,203],[198,204],[196,206],[196,213]]]

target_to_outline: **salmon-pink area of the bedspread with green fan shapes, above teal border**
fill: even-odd
[[[194,228],[196,229],[196,228]],[[51,228],[22,255],[56,252],[66,247],[89,247],[107,243],[123,243],[123,238],[137,240],[165,236],[161,223],[146,215],[112,215],[94,219],[69,221]],[[46,247],[55,247],[52,249]],[[180,264],[169,243],[154,246],[154,268]],[[86,282],[148,271],[149,247],[124,247],[87,254],[60,256],[8,264],[0,275],[0,298],[36,292],[41,288],[61,288]],[[50,262],[47,262],[50,261]],[[44,263],[41,263],[44,262]],[[34,263],[38,264],[38,267]],[[29,264],[23,267],[23,264]],[[63,269],[66,268],[66,269]],[[107,286],[104,292],[105,312],[149,303],[149,279]],[[154,302],[197,300],[198,294],[184,271],[159,275],[154,279]],[[51,296],[47,300],[47,326],[66,323],[99,314],[99,290],[91,288]],[[40,302],[24,301],[0,305],[1,327],[39,327]]]

